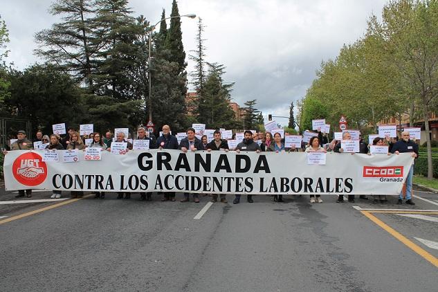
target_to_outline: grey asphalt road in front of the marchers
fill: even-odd
[[[12,196],[3,190],[0,201]],[[0,219],[0,290],[438,291],[437,266],[353,208],[412,209],[396,198],[373,205],[330,196],[310,204],[308,197],[274,203],[259,195],[232,205],[228,196],[230,203],[214,203],[196,220],[210,197],[199,204],[132,197],[87,197],[34,215],[28,212],[55,203],[0,205],[0,217],[14,219]],[[414,201],[416,210],[438,210],[438,203]],[[414,239],[438,241],[437,222],[374,215],[438,257]]]

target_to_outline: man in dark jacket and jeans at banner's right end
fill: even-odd
[[[410,140],[410,134],[408,131],[403,131],[401,133],[401,140],[395,143],[391,149],[391,152],[394,154],[401,153],[411,153],[412,157],[418,158],[418,145],[414,140]],[[408,205],[415,205],[412,202],[412,176],[414,175],[414,163],[412,163],[410,170],[408,172],[408,176],[406,176],[406,203]],[[399,195],[399,201],[397,202],[399,205],[403,203],[403,191],[401,191]]]

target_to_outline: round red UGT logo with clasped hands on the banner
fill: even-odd
[[[33,187],[46,180],[47,165],[37,153],[28,152],[15,159],[12,174],[22,185]]]

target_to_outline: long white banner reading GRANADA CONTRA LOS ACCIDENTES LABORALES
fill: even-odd
[[[42,161],[43,151],[5,156],[6,190],[106,192],[205,192],[229,194],[399,194],[410,154],[327,153],[325,165],[309,165],[303,152],[179,150],[102,152],[100,161]]]

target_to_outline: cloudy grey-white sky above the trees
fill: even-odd
[[[9,61],[17,69],[42,62],[34,35],[59,21],[48,13],[51,0],[1,0],[0,15],[10,33]],[[302,98],[322,60],[336,57],[343,44],[365,33],[367,19],[381,15],[384,0],[179,0],[180,15],[195,13],[206,26],[207,61],[224,64],[232,98],[257,100],[267,119],[289,116],[291,101]],[[130,0],[134,16],[151,23],[170,14],[172,0]],[[183,42],[194,49],[197,19],[183,18]],[[188,71],[192,62],[188,60]],[[277,118],[286,124],[286,119]]]

